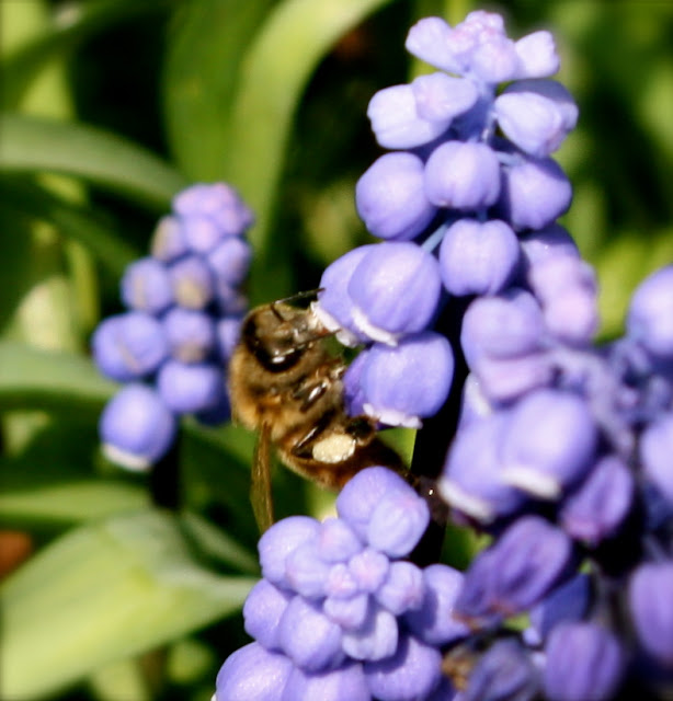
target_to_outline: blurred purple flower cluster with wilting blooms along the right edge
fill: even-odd
[[[588,269],[575,256],[550,245],[545,266]],[[602,346],[558,333],[535,263],[527,269],[525,289],[466,311],[471,372],[438,484],[455,518],[494,537],[455,605],[474,631],[465,645],[491,641],[466,698],[507,687],[494,662],[503,639],[526,679],[516,699],[669,698],[673,266],[638,287],[626,334]],[[544,279],[554,286],[551,273]],[[489,368],[503,361],[509,370]],[[522,613],[529,625],[514,641],[509,623]]]

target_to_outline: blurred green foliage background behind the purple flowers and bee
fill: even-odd
[[[253,304],[315,288],[367,240],[365,111],[420,69],[408,27],[477,8],[515,38],[557,37],[581,110],[558,154],[575,188],[564,223],[615,335],[637,281],[673,261],[670,0],[1,0],[3,699],[210,698],[258,574],[253,437],[185,422],[172,469],[123,473],[99,453],[115,388],[88,338],[192,182],[228,181],[255,209]],[[322,508],[276,472],[281,515]]]

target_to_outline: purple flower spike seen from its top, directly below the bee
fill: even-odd
[[[262,536],[263,579],[243,608],[255,642],[225,662],[217,701],[450,698],[432,694],[446,687],[438,646],[468,632],[450,617],[461,575],[407,560],[430,520],[425,499],[390,470],[367,468],[336,513],[293,516]],[[250,675],[276,683],[247,696]]]

